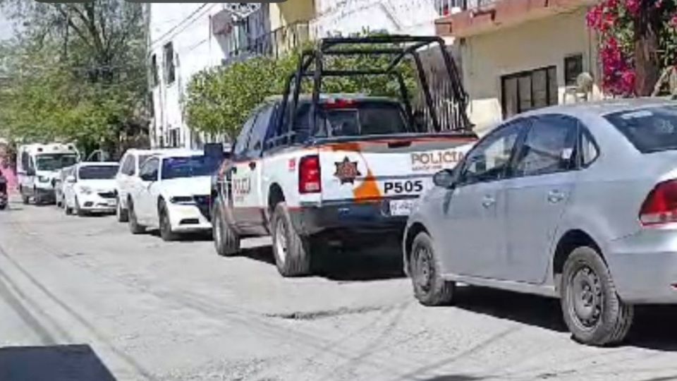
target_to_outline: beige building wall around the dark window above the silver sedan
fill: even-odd
[[[470,95],[470,119],[483,133],[501,121],[501,76],[556,66],[559,103],[565,99],[564,58],[583,54],[583,71],[597,75],[594,35],[585,24],[585,8],[499,28],[461,42],[463,83]],[[599,97],[599,89],[593,90]]]

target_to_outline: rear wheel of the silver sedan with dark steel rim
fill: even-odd
[[[597,250],[587,246],[573,250],[561,282],[564,321],[574,339],[597,346],[625,339],[634,308],[616,294],[609,268]]]

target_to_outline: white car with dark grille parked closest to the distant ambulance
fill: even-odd
[[[115,212],[115,174],[118,163],[80,162],[63,183],[63,209],[82,216],[91,212]]]

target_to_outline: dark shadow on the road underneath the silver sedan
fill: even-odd
[[[458,286],[454,306],[526,325],[568,332],[559,299],[477,286]],[[677,306],[637,306],[622,346],[677,351]]]

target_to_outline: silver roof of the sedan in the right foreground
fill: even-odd
[[[537,116],[543,114],[588,114],[592,116],[604,116],[618,111],[631,111],[645,107],[677,106],[677,102],[668,97],[640,97],[604,99],[602,101],[581,102],[574,104],[559,104],[556,106],[543,107],[518,114],[516,117]]]

